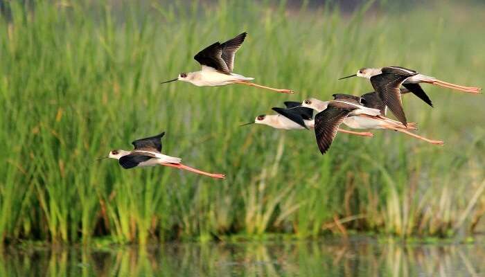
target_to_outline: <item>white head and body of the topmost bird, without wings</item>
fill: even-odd
[[[233,84],[233,82],[249,81],[254,78],[248,78],[236,73],[224,74],[209,66],[202,66],[201,71],[189,72],[185,78],[179,75],[178,80],[190,82],[197,87],[216,87]]]

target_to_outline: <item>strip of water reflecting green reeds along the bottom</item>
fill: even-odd
[[[8,247],[0,255],[0,276],[485,276],[485,246],[353,238],[148,249]]]

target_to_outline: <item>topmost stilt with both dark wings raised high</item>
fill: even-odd
[[[282,93],[293,93],[290,89],[274,89],[272,87],[262,86],[261,84],[254,84],[253,82],[249,82],[250,80],[254,80],[254,78],[248,78],[232,72],[234,68],[234,55],[236,55],[241,44],[243,44],[246,35],[247,33],[245,32],[222,44],[215,42],[207,46],[194,56],[194,59],[202,66],[201,71],[182,72],[177,78],[162,82],[162,84],[174,81],[190,82],[197,87],[245,84]]]

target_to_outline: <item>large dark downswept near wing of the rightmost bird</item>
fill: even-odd
[[[398,69],[396,69],[398,71]],[[403,82],[412,76],[412,74],[405,74],[404,71],[400,71],[403,74],[397,73],[385,73],[374,75],[371,77],[371,84],[374,90],[378,93],[378,96],[382,102],[391,109],[392,113],[398,120],[407,126],[406,115],[403,110],[403,102],[400,99],[399,87]],[[414,74],[416,75],[416,74]]]

